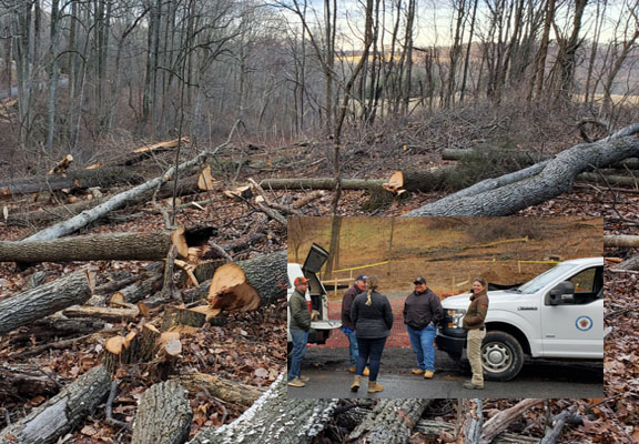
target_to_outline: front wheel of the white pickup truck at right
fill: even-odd
[[[524,351],[513,335],[488,332],[481,343],[481,362],[488,381],[510,381],[524,365]]]

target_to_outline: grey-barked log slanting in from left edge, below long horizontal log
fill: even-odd
[[[0,301],[0,334],[6,334],[91,297],[95,272],[78,271]]]

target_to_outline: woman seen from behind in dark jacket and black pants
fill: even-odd
[[[393,309],[388,299],[378,293],[379,280],[377,276],[368,276],[366,280],[366,293],[361,293],[353,301],[351,319],[355,325],[355,336],[359,354],[355,377],[351,385],[352,392],[359,390],[362,375],[366,362],[369,363],[368,393],[382,392],[384,386],[377,384],[382,352],[386,344],[386,337],[393,327]]]

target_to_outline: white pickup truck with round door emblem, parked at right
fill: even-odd
[[[454,360],[466,347],[462,320],[470,294],[442,301],[446,316],[436,344]],[[524,357],[604,359],[604,259],[560,262],[514,289],[488,291],[484,375],[491,381],[517,376]]]

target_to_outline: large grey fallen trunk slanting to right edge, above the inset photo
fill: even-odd
[[[639,123],[595,143],[567,149],[551,160],[524,170],[488,179],[415,209],[415,215],[508,215],[539,204],[568,191],[577,174],[589,168],[602,168],[639,154]]]

